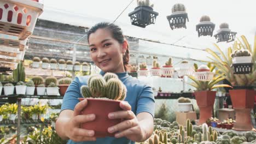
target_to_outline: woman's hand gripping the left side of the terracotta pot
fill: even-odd
[[[80,115],[87,104],[87,100],[85,99],[75,105],[73,116],[65,126],[66,136],[72,141],[96,141],[94,130],[87,130],[80,127],[82,123],[91,122],[95,119],[94,114]]]

